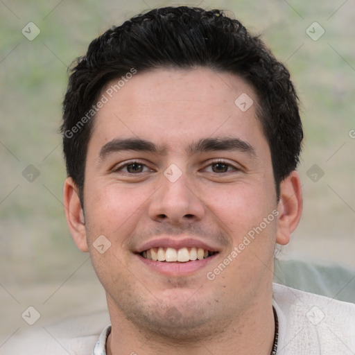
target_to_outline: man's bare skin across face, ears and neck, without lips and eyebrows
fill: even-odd
[[[242,93],[254,101],[245,112],[234,104]],[[71,178],[64,206],[73,239],[90,253],[106,291],[112,321],[107,354],[270,354],[275,243],[288,243],[302,195],[293,171],[277,200],[256,105],[252,87],[230,73],[155,69],[133,76],[98,112],[87,150],[85,218]],[[200,139],[225,138],[244,141],[254,153],[189,150]],[[114,139],[145,139],[157,151],[100,157]],[[144,166],[120,167],[136,159]],[[182,173],[175,182],[164,175],[171,164]],[[220,275],[207,279],[275,209],[279,216]],[[101,235],[111,243],[103,254],[93,246]],[[135,254],[161,236],[203,240],[218,254],[188,275],[167,276]]]

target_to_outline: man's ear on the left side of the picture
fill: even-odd
[[[87,252],[85,217],[80,205],[78,188],[72,178],[67,178],[64,182],[64,210],[68,227],[76,246]]]

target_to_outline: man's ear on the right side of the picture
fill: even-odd
[[[296,229],[302,214],[302,190],[300,175],[293,171],[280,184],[280,200],[277,210],[276,243],[286,245],[291,239],[291,233]]]

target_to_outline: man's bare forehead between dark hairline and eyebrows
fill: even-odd
[[[139,137],[164,146],[201,137],[261,134],[257,96],[231,73],[198,69],[155,69],[111,80],[99,100],[92,137]],[[245,137],[240,137],[245,139]]]

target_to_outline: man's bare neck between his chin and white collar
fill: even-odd
[[[265,296],[265,295],[263,295]],[[275,321],[270,297],[261,297],[243,312],[230,312],[224,320],[210,321],[187,334],[162,334],[154,325],[143,327],[128,320],[107,298],[112,331],[107,339],[107,355],[270,355]]]

